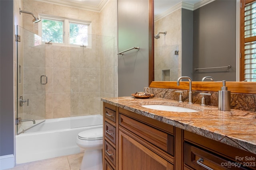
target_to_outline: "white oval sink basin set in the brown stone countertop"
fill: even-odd
[[[178,106],[142,105],[142,107],[146,107],[146,108],[149,108],[149,109],[163,110],[163,111],[197,112],[197,110],[194,110],[194,109],[188,109],[188,108],[178,107]]]

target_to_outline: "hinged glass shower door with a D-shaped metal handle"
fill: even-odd
[[[17,134],[45,120],[45,45],[41,37],[18,26]]]

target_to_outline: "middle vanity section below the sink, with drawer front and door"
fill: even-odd
[[[173,126],[121,108],[118,116],[120,170],[174,169]]]

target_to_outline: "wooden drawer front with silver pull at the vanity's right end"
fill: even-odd
[[[243,164],[232,162],[226,158],[212,154],[188,143],[184,143],[184,163],[196,170],[205,170],[209,167],[213,170],[244,170]],[[239,166],[240,165],[240,166]]]

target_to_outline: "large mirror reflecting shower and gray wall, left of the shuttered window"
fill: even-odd
[[[151,80],[236,81],[236,5],[236,0],[154,0]]]

